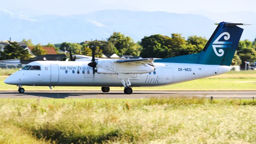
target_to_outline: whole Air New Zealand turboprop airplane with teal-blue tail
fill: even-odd
[[[230,71],[243,29],[242,23],[220,22],[202,52],[172,58],[102,59],[85,58],[71,61],[35,61],[4,80],[18,86],[124,86],[125,94],[132,87],[176,84]]]

